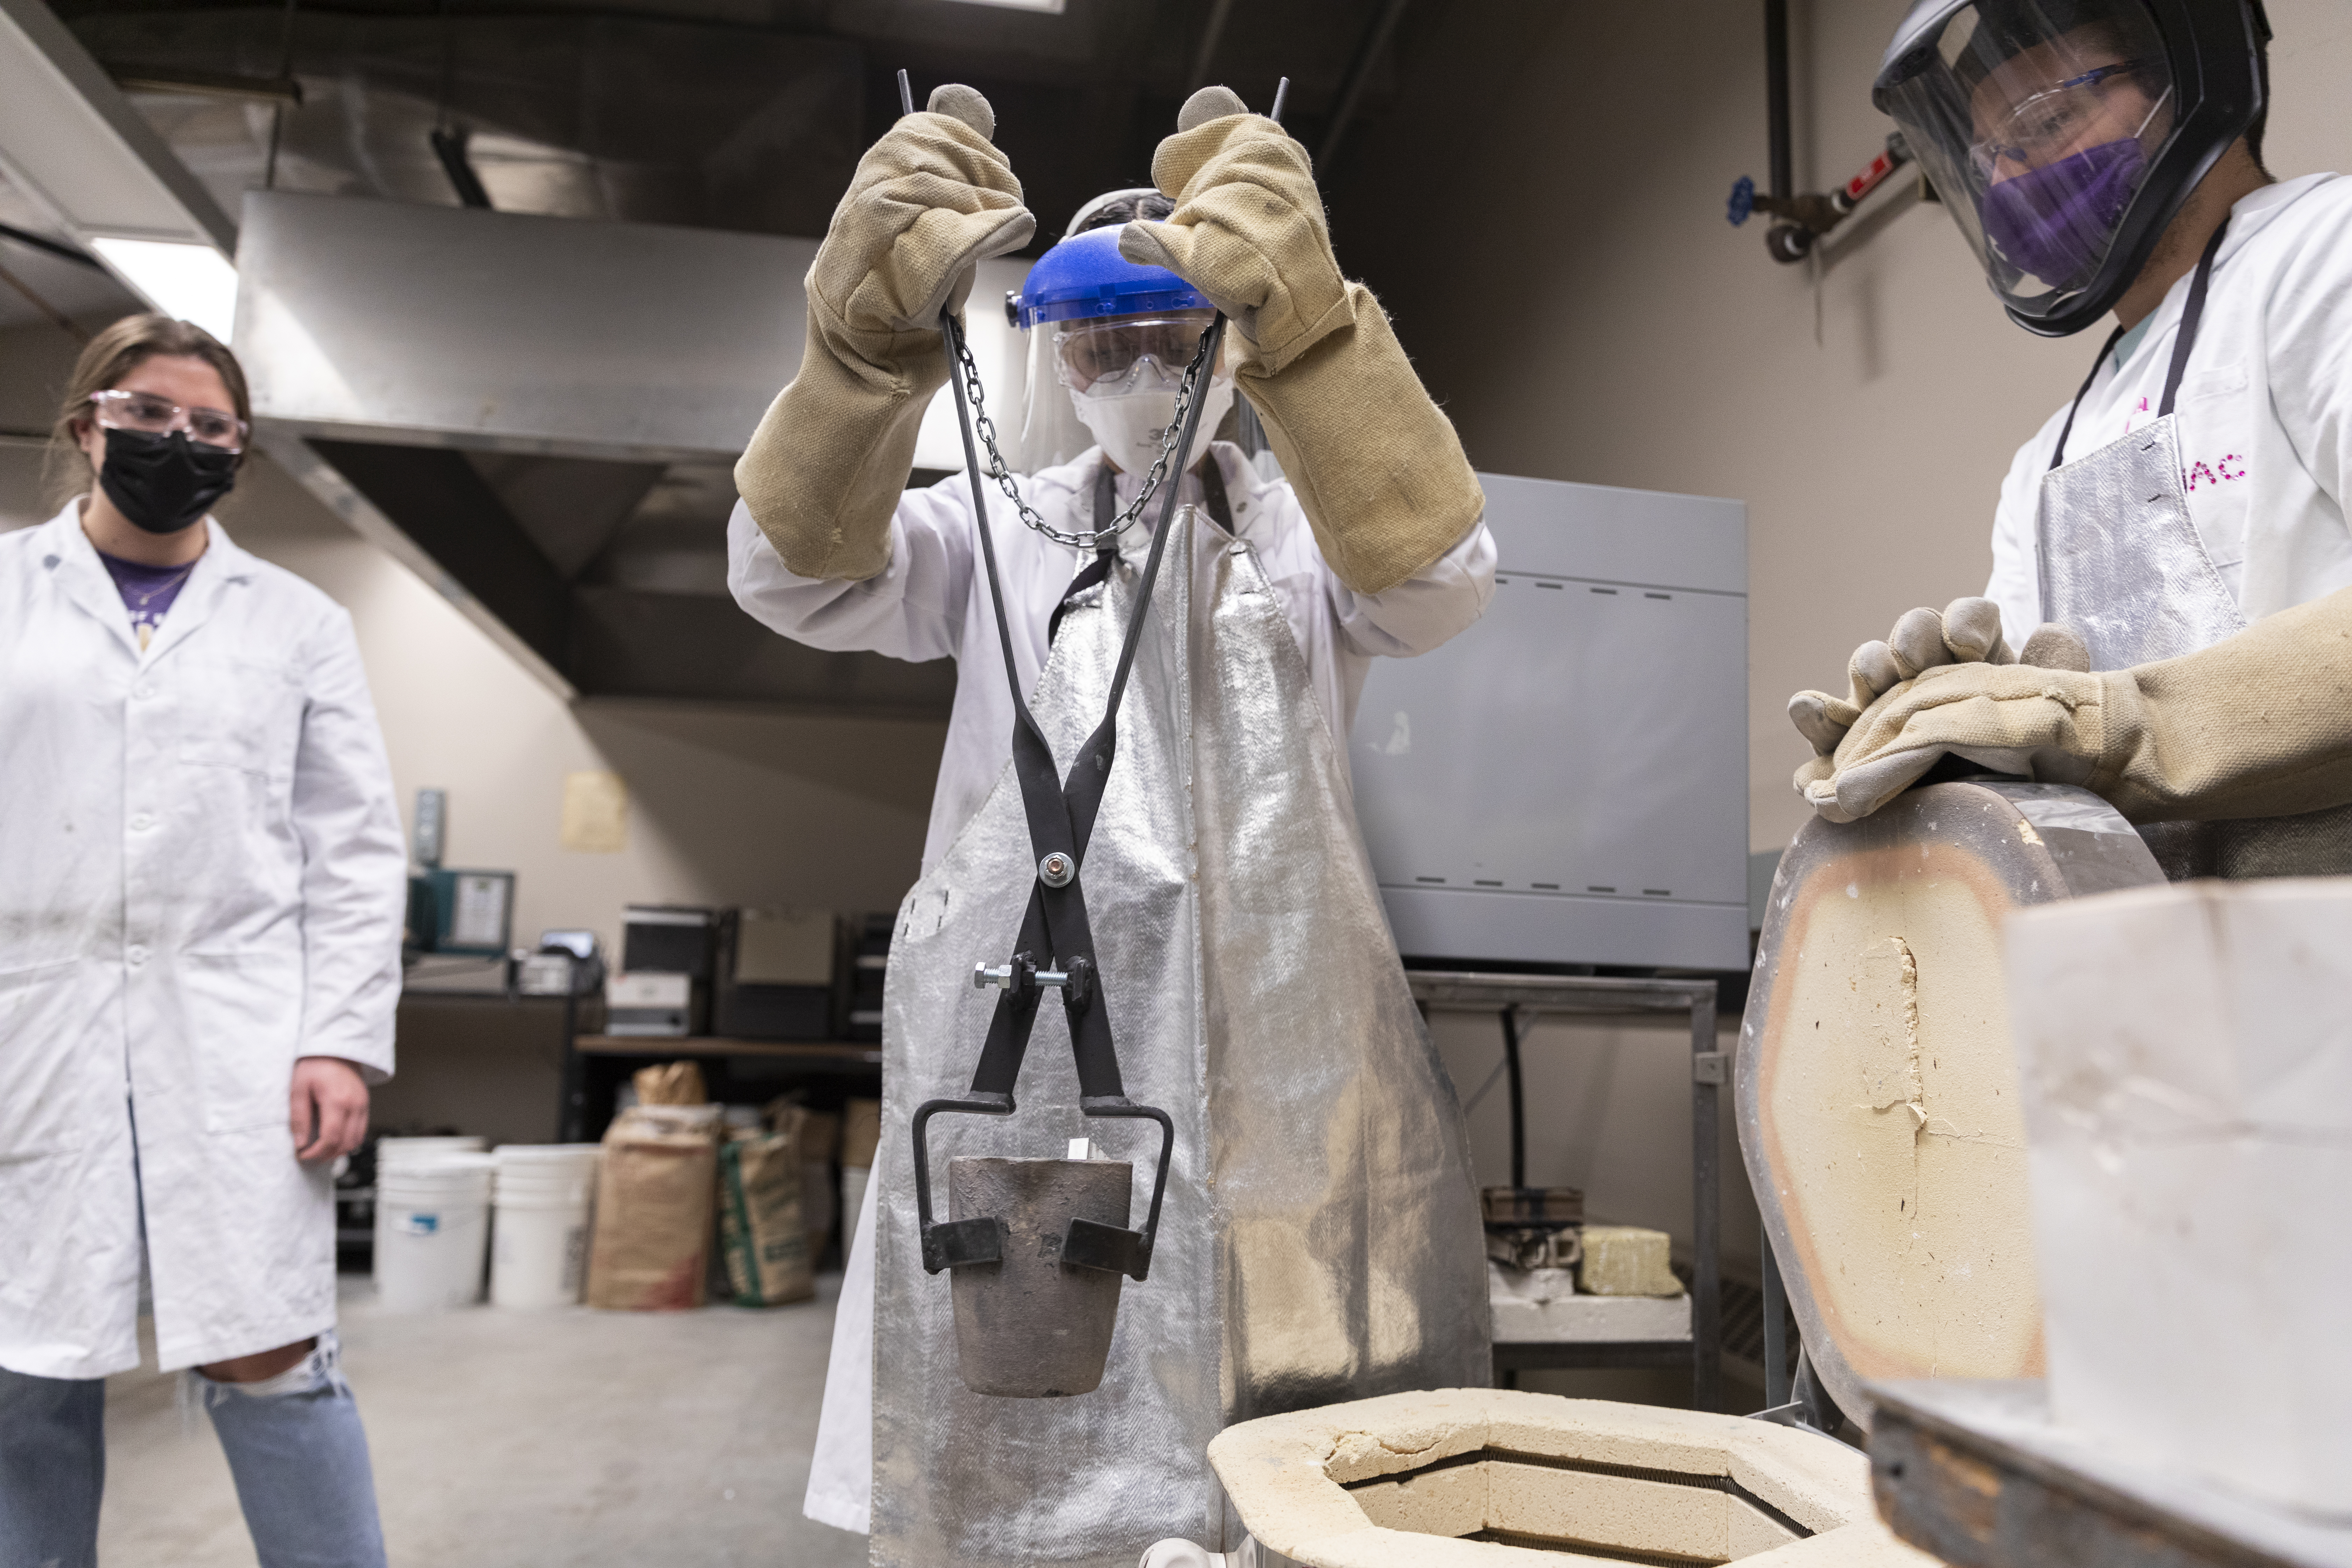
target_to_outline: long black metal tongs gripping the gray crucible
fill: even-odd
[[[898,101],[906,113],[915,113],[915,94],[906,71],[898,73]],[[962,367],[964,331],[953,310],[941,310],[938,329],[948,341],[950,367]],[[1218,313],[1202,339],[1204,362],[1211,367],[1216,364],[1223,336],[1225,317]],[[1021,914],[1021,936],[1014,943],[1014,957],[1000,966],[978,964],[974,971],[976,985],[993,985],[1000,994],[997,1011],[988,1020],[981,1063],[971,1074],[971,1091],[960,1100],[924,1100],[915,1110],[915,1208],[922,1220],[922,1267],[936,1274],[941,1269],[1002,1260],[1004,1225],[995,1215],[969,1220],[931,1218],[931,1157],[924,1133],[931,1117],[941,1112],[983,1117],[1009,1117],[1014,1112],[1014,1079],[1021,1077],[1021,1058],[1028,1051],[1030,1027],[1037,1023],[1037,1004],[1047,990],[1061,990],[1061,1006],[1070,1020],[1070,1046],[1077,1058],[1080,1110],[1087,1117],[1136,1117],[1160,1124],[1160,1168],[1152,1178],[1152,1201],[1143,1229],[1075,1218],[1063,1239],[1061,1260],[1141,1281],[1150,1274],[1152,1241],[1160,1234],[1160,1201],[1167,1197],[1176,1126],[1164,1110],[1127,1098],[1127,1088],[1120,1081],[1120,1058],[1110,1037],[1110,1011],[1094,957],[1094,929],[1087,919],[1087,896],[1080,872],[1087,860],[1087,842],[1094,837],[1094,818],[1103,804],[1103,785],[1110,778],[1110,764],[1117,755],[1120,698],[1127,693],[1127,675],[1143,639],[1143,623],[1150,618],[1152,585],[1160,581],[1160,559],[1167,550],[1178,487],[1169,484],[1167,498],[1160,503],[1160,524],[1152,531],[1152,548],[1136,585],[1136,604],[1127,623],[1127,637],[1120,644],[1117,670],[1110,677],[1110,701],[1103,710],[1103,722],[1080,748],[1070,776],[1063,778],[1054,762],[1054,748],[1047,745],[1044,731],[1037,726],[1035,715],[1030,715],[1028,698],[1021,691],[1021,675],[1014,665],[1011,623],[1004,616],[1004,588],[997,574],[997,545],[988,524],[981,456],[971,440],[971,409],[964,400],[962,376],[950,371],[948,383],[955,388],[955,414],[964,435],[964,465],[971,475],[971,505],[978,515],[981,559],[988,567],[988,599],[997,616],[1004,679],[1014,696],[1014,778],[1021,783],[1030,849],[1037,851],[1037,882],[1030,889],[1028,910]],[[1192,454],[1200,402],[1192,400],[1183,414],[1183,433],[1176,442],[1176,475],[1185,473]],[[1047,954],[1044,964],[1040,964],[1040,954]]]

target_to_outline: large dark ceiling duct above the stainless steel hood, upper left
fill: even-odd
[[[273,78],[282,9],[108,9],[75,35],[132,82]],[[694,21],[303,9],[285,108],[141,94],[179,158],[238,209],[275,190],[456,205],[433,132],[461,129],[499,212],[818,235],[863,153],[863,52]]]

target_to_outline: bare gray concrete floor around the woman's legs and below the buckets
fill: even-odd
[[[849,1568],[866,1537],[800,1516],[840,1276],[769,1312],[376,1312],[343,1291],[393,1568]],[[153,1366],[153,1347],[148,1352]],[[252,1568],[228,1465],[174,1378],[106,1389],[111,1568]]]

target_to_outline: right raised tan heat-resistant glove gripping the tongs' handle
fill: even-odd
[[[1334,576],[1381,592],[1451,550],[1486,496],[1381,303],[1341,277],[1308,150],[1232,92],[1202,87],[1152,155],[1152,181],[1176,212],[1129,223],[1120,254],[1169,268],[1232,317],[1235,383]]]

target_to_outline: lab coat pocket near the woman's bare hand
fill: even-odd
[[[301,1046],[301,957],[191,952],[181,999],[207,1133],[289,1126],[287,1091]]]

